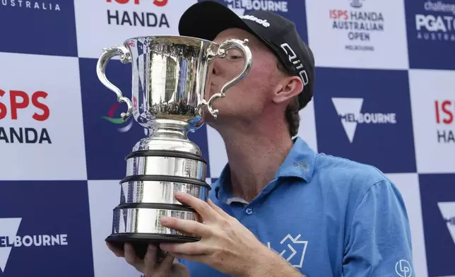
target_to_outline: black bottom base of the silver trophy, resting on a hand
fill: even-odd
[[[184,243],[197,242],[199,237],[188,237],[183,235],[165,235],[165,234],[113,234],[105,239],[114,247],[124,249],[125,242],[133,245],[136,256],[143,259],[146,256],[148,244],[155,244],[159,249],[160,243]],[[158,257],[159,259],[159,257]]]

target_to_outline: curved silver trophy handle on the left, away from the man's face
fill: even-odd
[[[128,110],[126,112],[122,112],[120,117],[122,117],[123,121],[125,121],[133,112],[133,105],[131,105],[131,100],[124,97],[122,95],[122,91],[119,90],[116,86],[114,86],[106,77],[106,65],[113,57],[120,56],[120,61],[124,64],[128,64],[131,62],[131,54],[129,53],[128,49],[124,46],[115,46],[110,48],[102,49],[102,54],[100,59],[98,59],[98,63],[96,64],[96,74],[100,79],[101,83],[105,85],[105,87],[112,90],[117,95],[117,101],[119,103],[125,102]]]

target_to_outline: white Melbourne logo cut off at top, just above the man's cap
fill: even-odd
[[[225,0],[225,4],[240,16],[242,16],[245,11],[288,12],[288,1]]]

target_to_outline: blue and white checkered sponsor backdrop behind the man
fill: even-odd
[[[129,37],[177,35],[195,1],[0,1],[0,277],[140,276],[104,239],[124,157],[146,132],[119,119],[95,64]],[[455,276],[455,1],[220,1],[295,20],[317,64],[300,136],[400,189],[414,268],[397,276]],[[131,95],[131,64],[111,61],[107,76]],[[191,140],[213,182],[222,139],[204,126]]]

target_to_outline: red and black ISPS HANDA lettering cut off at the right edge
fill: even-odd
[[[455,143],[455,100],[435,100],[436,136],[439,143]]]

